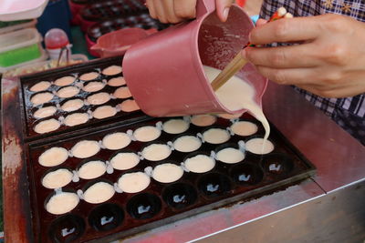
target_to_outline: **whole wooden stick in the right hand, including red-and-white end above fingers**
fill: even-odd
[[[287,10],[284,7],[280,7],[277,9],[276,13],[270,18],[268,22],[275,21],[280,18],[290,18],[293,17],[293,15],[287,13]],[[248,43],[245,47],[251,46],[250,43]],[[245,49],[244,47],[244,49]],[[235,55],[234,59],[232,59],[227,66],[224,67],[222,72],[219,73],[218,76],[216,76],[211,84],[214,91],[216,91],[221,86],[224,86],[224,84],[232,77],[235,76],[235,73],[237,73],[239,70],[241,70],[245,64],[247,63],[247,60],[245,60],[244,56],[241,54],[241,50]]]

